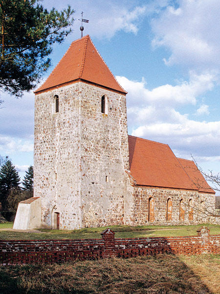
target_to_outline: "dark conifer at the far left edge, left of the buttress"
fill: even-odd
[[[19,184],[20,176],[11,161],[7,160],[0,169],[0,202],[3,210],[11,188],[19,187]]]

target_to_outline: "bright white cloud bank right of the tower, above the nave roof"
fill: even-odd
[[[206,74],[191,75],[189,82],[182,82],[178,86],[160,86],[151,91],[146,88],[144,80],[134,82],[125,77],[117,77],[117,79],[129,92],[127,95],[128,125],[132,129],[132,135],[167,143],[184,157],[189,157],[192,153],[200,157],[218,158],[220,121],[194,121],[188,114],[181,114],[175,109],[177,102],[185,105],[196,103],[199,95],[210,90],[215,76],[211,78],[211,75]],[[174,94],[176,87],[177,99]],[[166,92],[167,88],[169,91]],[[155,92],[159,94],[155,96]],[[206,106],[203,104],[203,107],[200,107],[200,113],[204,114],[208,111]]]

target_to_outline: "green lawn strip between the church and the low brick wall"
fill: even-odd
[[[212,235],[220,234],[220,225],[203,224],[210,228]],[[13,224],[2,223],[1,228],[12,228]],[[139,238],[139,237],[168,237],[168,236],[193,236],[197,235],[197,229],[202,225],[182,225],[182,226],[109,226],[115,232],[115,238]],[[107,227],[85,228],[80,230],[47,230],[38,229],[36,233],[1,231],[0,239],[100,239],[100,233]]]

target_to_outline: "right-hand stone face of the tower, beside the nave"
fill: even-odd
[[[80,83],[82,227],[124,224],[129,169],[126,97]],[[101,98],[107,99],[107,114]]]

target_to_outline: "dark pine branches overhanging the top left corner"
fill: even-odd
[[[39,0],[0,0],[0,87],[15,96],[31,90],[50,66],[54,43],[71,32],[74,11],[44,9]]]

